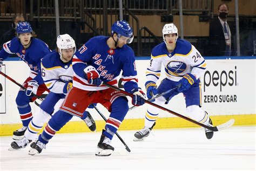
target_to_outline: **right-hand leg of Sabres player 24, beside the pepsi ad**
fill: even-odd
[[[190,89],[184,92],[186,101],[186,110],[188,117],[200,122],[202,124],[212,126],[212,120],[208,113],[200,108],[201,106],[201,83],[198,80]],[[205,129],[207,139],[213,137],[213,131]]]

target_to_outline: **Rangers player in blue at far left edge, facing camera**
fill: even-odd
[[[20,22],[16,27],[17,37],[6,42],[0,51],[0,69],[4,59],[8,58],[10,54],[17,54],[30,68],[30,75],[25,80],[23,86],[27,88],[20,89],[16,97],[16,104],[19,115],[22,120],[23,127],[14,131],[13,139],[19,140],[23,138],[30,120],[32,119],[32,112],[30,102],[35,101],[36,97],[31,94],[42,95],[44,91],[49,91],[45,86],[40,70],[41,58],[50,53],[48,45],[42,40],[33,38],[32,27],[28,22]],[[1,62],[2,61],[2,62]],[[33,79],[33,80],[32,80]]]

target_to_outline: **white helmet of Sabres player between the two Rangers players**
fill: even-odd
[[[74,54],[76,52],[75,40],[69,34],[61,34],[57,37],[57,47],[60,55],[60,59],[65,62],[62,58],[62,49],[74,48]]]

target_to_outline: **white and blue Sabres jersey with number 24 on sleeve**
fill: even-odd
[[[183,75],[191,73],[198,79],[206,69],[206,62],[189,41],[178,39],[173,52],[168,52],[162,42],[153,48],[150,66],[146,71],[147,81],[157,82],[161,73],[161,65],[165,67],[166,78],[179,81]]]

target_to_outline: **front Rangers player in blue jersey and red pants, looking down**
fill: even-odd
[[[72,116],[82,117],[89,104],[100,103],[111,113],[100,137],[96,155],[111,155],[114,151],[111,139],[122,124],[129,106],[122,92],[103,86],[102,82],[117,86],[117,76],[123,70],[124,89],[133,94],[132,103],[142,105],[145,99],[143,91],[138,88],[134,52],[126,45],[132,39],[132,28],[127,22],[120,20],[112,25],[111,37],[91,38],[75,53],[72,62],[73,88],[59,111],[49,120],[29,154],[41,153],[48,141]]]

